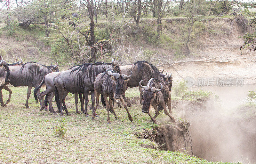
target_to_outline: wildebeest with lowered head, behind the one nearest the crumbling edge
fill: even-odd
[[[148,63],[147,61],[137,61],[130,65],[120,66],[120,70],[122,74],[128,75],[129,69],[132,70],[133,74],[132,74],[132,80],[130,80],[127,83],[126,89],[128,87],[130,88],[138,87],[139,86],[138,84],[141,80],[144,80],[142,82],[142,85],[147,85],[147,82],[153,77],[159,80],[163,80],[168,86],[170,85],[169,80],[171,79],[172,75],[171,76],[163,75],[162,74],[163,72],[161,73],[155,66]],[[141,92],[140,86],[139,86],[139,89],[140,89],[140,103],[141,103],[142,92]],[[123,95],[123,98],[127,103],[127,105],[131,107],[132,105],[131,103],[128,102],[125,95]]]

